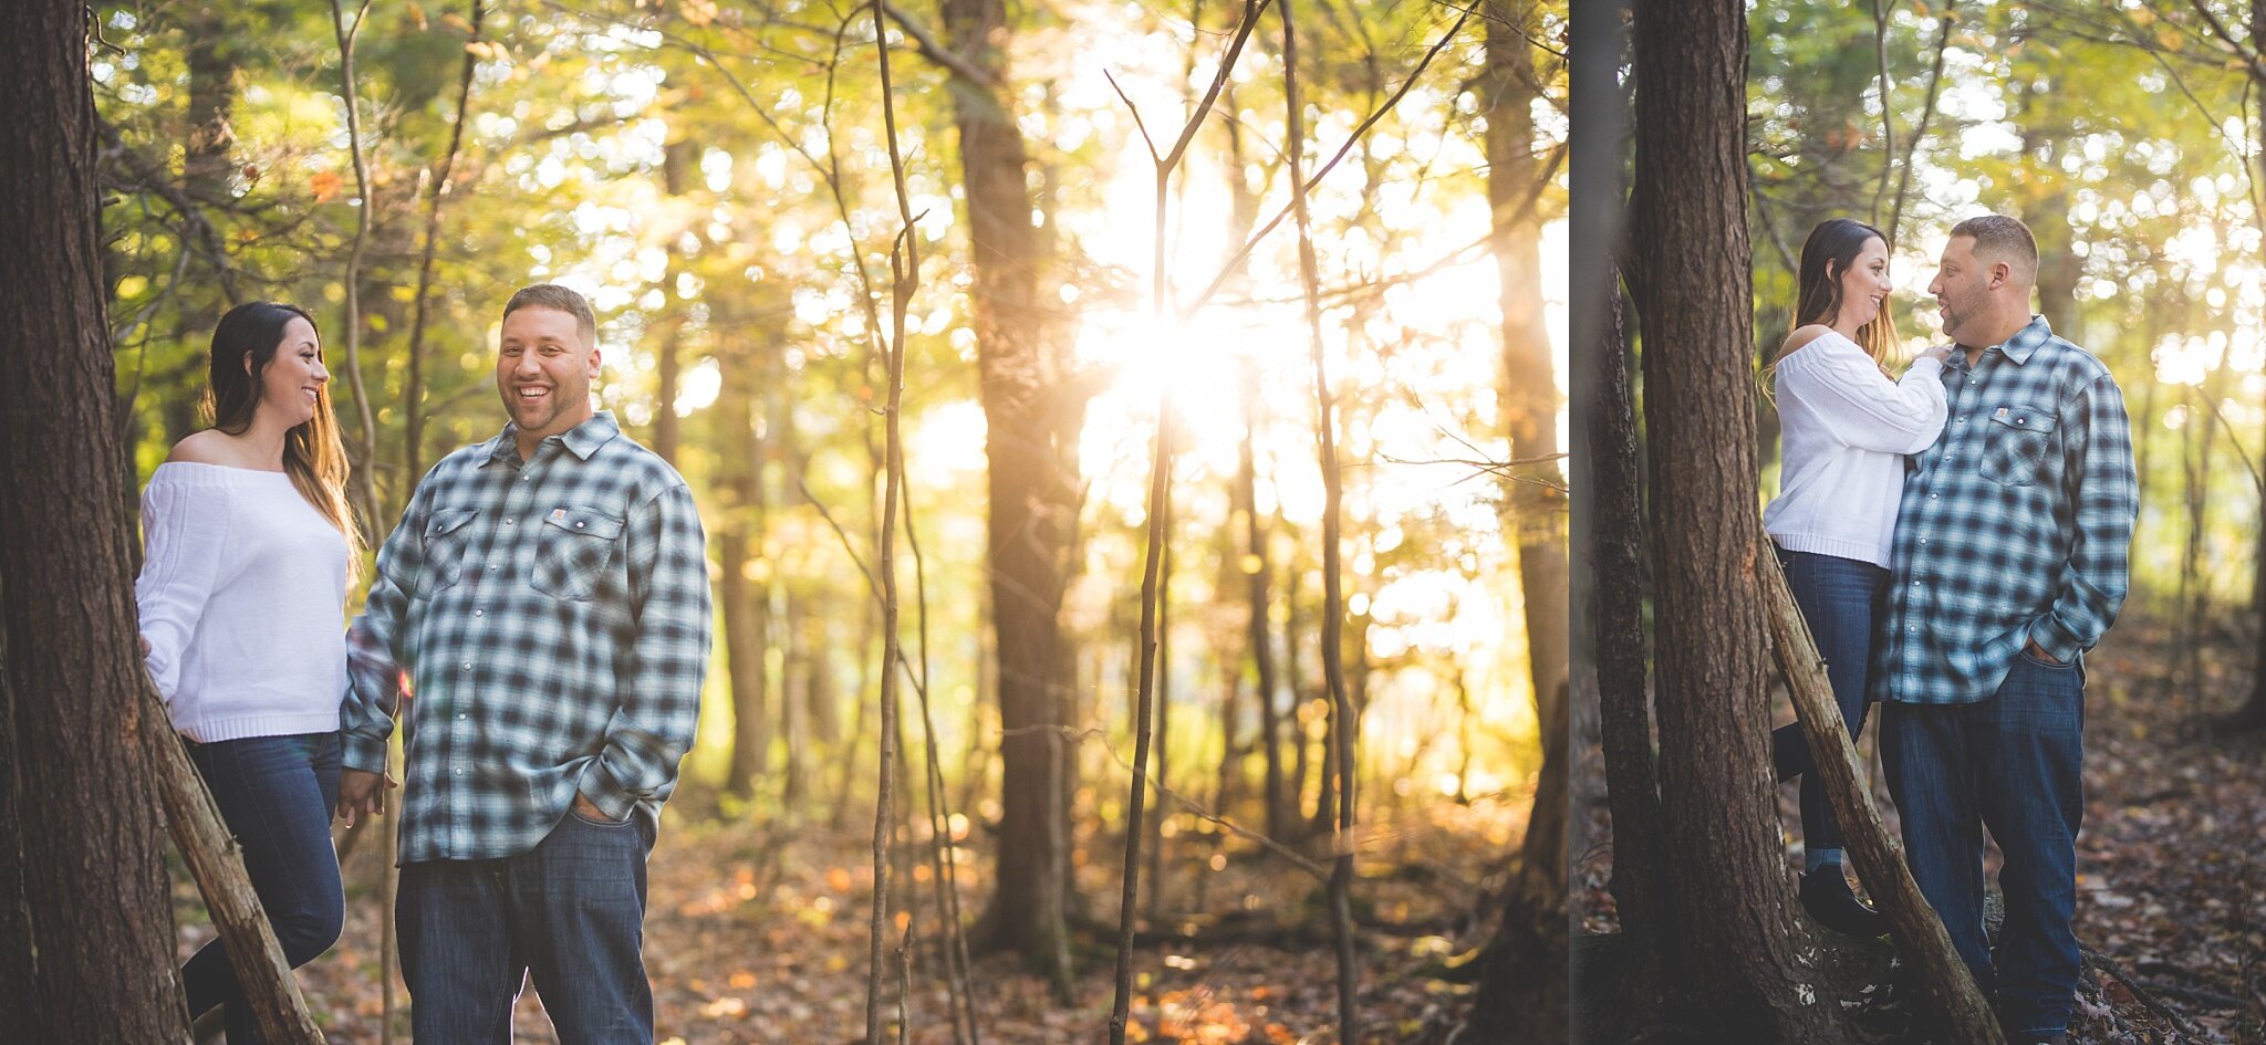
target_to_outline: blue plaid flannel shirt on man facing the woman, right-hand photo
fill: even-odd
[[[2126,596],[2139,478],[2110,369],[2044,317],[1944,365],[1951,419],[1906,471],[1874,700],[1999,691],[2028,642],[2082,662]]]

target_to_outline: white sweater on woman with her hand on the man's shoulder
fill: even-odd
[[[1919,358],[1890,381],[1838,331],[1779,360],[1779,496],[1763,528],[1781,549],[1888,567],[1903,456],[1944,431],[1942,372]]]

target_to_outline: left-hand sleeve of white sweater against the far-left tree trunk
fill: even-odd
[[[229,492],[152,481],[143,490],[143,571],[134,580],[150,680],[170,705],[181,687],[181,651],[220,583],[229,540]]]

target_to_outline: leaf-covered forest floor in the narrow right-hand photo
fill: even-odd
[[[2087,657],[2076,914],[2087,957],[2073,1045],[2266,1045],[2266,734],[2216,725],[2248,694],[2250,657],[2223,642],[2203,657],[2198,685],[2171,682],[2175,635],[2164,621],[2128,619]],[[1774,721],[1792,721],[1783,696]],[[1874,730],[1865,732],[1874,805],[1894,830]],[[1600,764],[1595,748],[1588,764]],[[1788,873],[1801,870],[1795,796],[1795,784],[1779,787]],[[1575,902],[1593,934],[1618,929],[1602,798],[1598,789],[1579,814],[1593,841],[1577,868]],[[1994,846],[1994,909],[1996,868]],[[1851,943],[1833,950],[1860,966],[1845,977],[1851,997],[1842,1000],[1856,1022],[1883,1043],[1919,1040],[1917,1013],[1892,986],[1888,945],[1815,932]]]

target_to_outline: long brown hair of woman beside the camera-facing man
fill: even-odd
[[[261,406],[261,372],[276,358],[283,345],[283,326],[292,320],[315,317],[306,308],[281,301],[245,301],[229,308],[213,326],[213,351],[208,367],[208,394],[213,397],[213,428],[242,435],[252,428],[252,415]],[[322,331],[317,329],[317,338]],[[245,365],[245,360],[252,360]],[[347,535],[347,569],[358,571],[363,560],[363,533],[353,526],[353,510],[347,508],[347,444],[338,435],[338,417],[331,413],[331,385],[315,390],[315,417],[283,433],[283,471],[299,487],[299,496],[315,505],[338,533]]]

